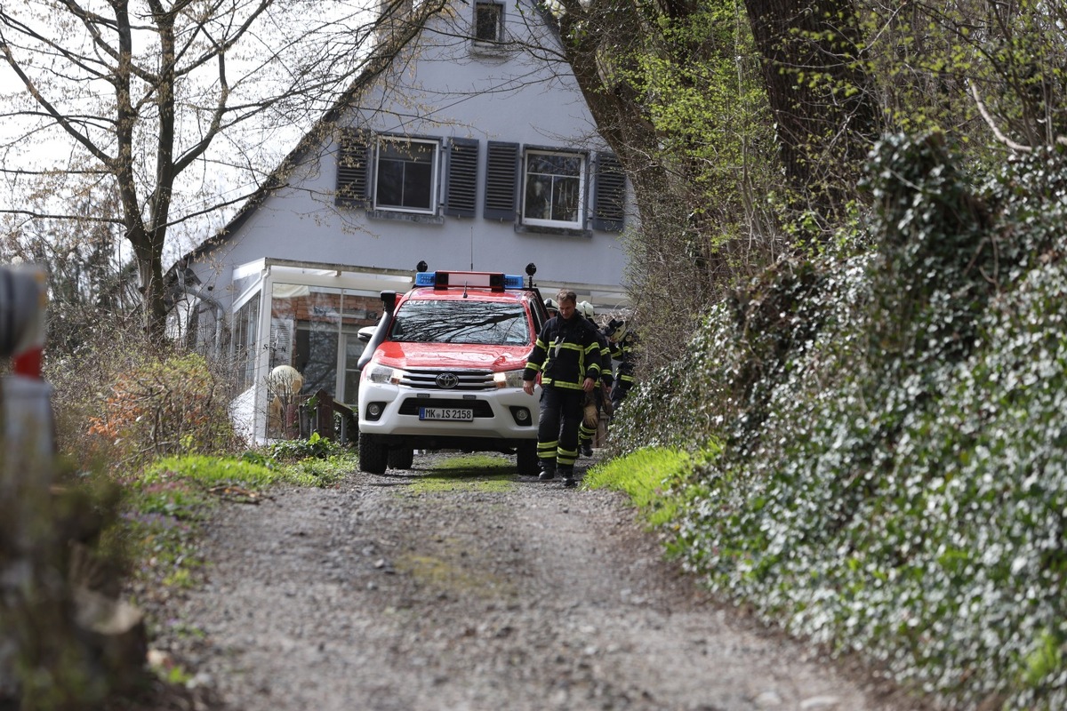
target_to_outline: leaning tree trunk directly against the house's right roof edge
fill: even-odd
[[[646,106],[648,97],[625,77],[639,74],[633,65],[636,52],[649,51],[650,37],[658,51],[679,64],[697,61],[706,48],[699,43],[660,42],[655,23],[650,26],[647,6],[628,0],[594,0],[582,4],[564,0],[567,12],[559,20],[563,54],[571,66],[602,136],[619,158],[631,183],[640,214],[640,235],[632,236],[628,290],[633,294],[633,318],[642,335],[657,344],[656,358],[669,359],[681,352],[691,335],[696,314],[721,288],[715,264],[723,256],[711,249],[700,225],[691,215],[687,178],[700,167],[668,159],[662,136]],[[658,6],[665,16],[678,19],[701,12],[683,0]],[[665,161],[672,160],[669,164]],[[664,304],[671,305],[673,319],[663,319]],[[646,360],[644,365],[656,362]]]

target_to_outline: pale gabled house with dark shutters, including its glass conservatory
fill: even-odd
[[[528,0],[456,0],[369,85],[353,92],[223,233],[171,270],[173,325],[233,356],[235,403],[255,439],[267,375],[355,402],[356,330],[416,264],[523,274],[625,302],[621,235],[633,220],[618,161],[570,68],[522,49],[558,46]],[[280,168],[282,176],[282,168]]]

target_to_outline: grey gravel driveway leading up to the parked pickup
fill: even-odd
[[[447,456],[223,504],[205,584],[152,611],[152,653],[210,691],[188,708],[928,708],[710,599],[620,495],[430,486]]]

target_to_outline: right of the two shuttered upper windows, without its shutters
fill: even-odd
[[[523,223],[582,228],[584,172],[580,153],[526,151]]]

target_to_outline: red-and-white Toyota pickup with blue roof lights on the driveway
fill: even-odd
[[[527,273],[532,275],[531,264]],[[547,321],[537,287],[497,272],[418,272],[361,358],[360,468],[411,467],[415,450],[514,454],[537,473],[538,401],[523,369]]]

